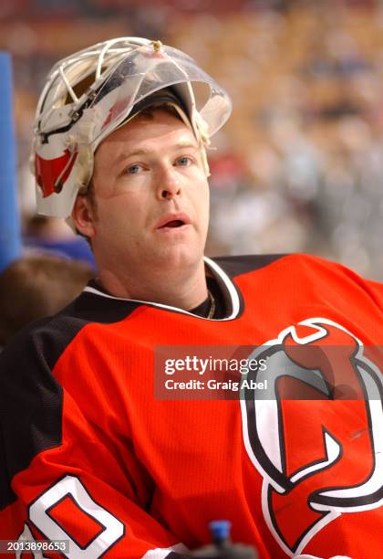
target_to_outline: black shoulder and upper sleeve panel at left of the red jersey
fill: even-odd
[[[119,322],[140,303],[84,292],[57,316],[27,326],[0,353],[0,509],[16,501],[11,480],[61,444],[62,388],[52,371],[89,322]]]

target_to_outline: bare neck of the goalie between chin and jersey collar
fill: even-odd
[[[110,295],[123,299],[157,302],[171,307],[190,311],[207,298],[204,262],[195,269],[148,270],[142,277],[122,277],[109,269],[100,269],[99,284]]]

